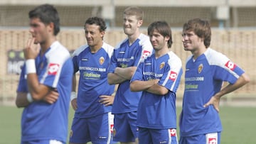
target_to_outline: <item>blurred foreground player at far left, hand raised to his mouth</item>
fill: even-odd
[[[73,77],[70,52],[56,39],[60,19],[53,6],[38,6],[28,15],[32,38],[23,50],[26,62],[16,97],[16,105],[25,107],[21,143],[64,144]]]

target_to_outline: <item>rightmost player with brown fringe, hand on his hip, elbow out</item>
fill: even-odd
[[[184,50],[192,55],[186,60],[179,143],[220,143],[220,98],[250,81],[238,65],[210,48],[210,36],[208,21],[183,24]],[[228,86],[222,87],[224,81]]]

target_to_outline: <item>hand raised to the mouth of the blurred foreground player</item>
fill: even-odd
[[[40,44],[35,44],[35,38],[29,38],[26,48],[23,50],[26,60],[35,59],[40,51]]]

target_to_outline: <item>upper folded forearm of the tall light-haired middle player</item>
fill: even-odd
[[[114,70],[114,73],[119,75],[120,77],[124,77],[124,79],[131,79],[136,69],[137,67],[127,67],[127,68],[117,67]]]

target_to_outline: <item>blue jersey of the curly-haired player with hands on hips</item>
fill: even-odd
[[[96,53],[92,53],[88,45],[83,45],[73,53],[74,72],[80,73],[76,117],[88,118],[112,110],[112,106],[105,106],[99,101],[101,95],[111,96],[114,93],[114,85],[107,82],[113,50],[111,45],[103,43]]]

